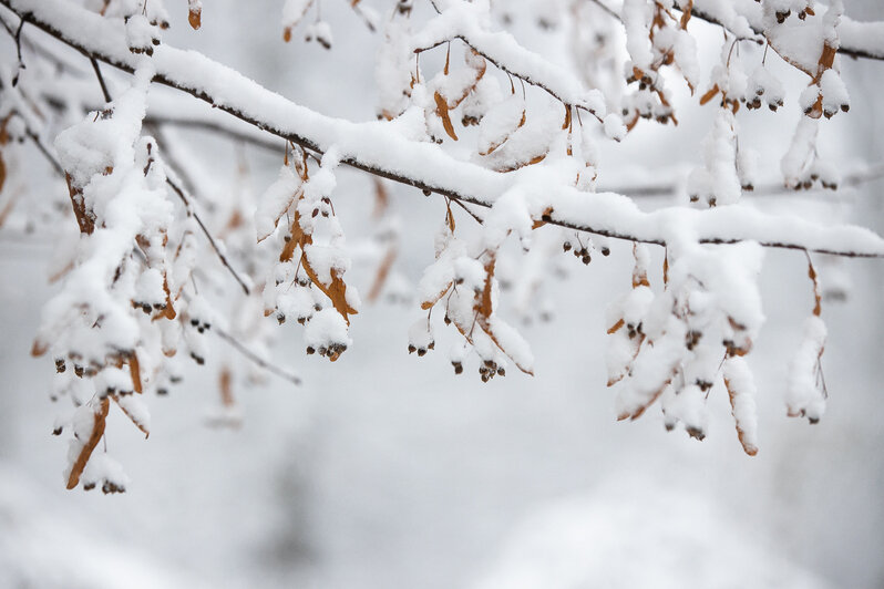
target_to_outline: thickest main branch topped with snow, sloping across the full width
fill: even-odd
[[[542,199],[532,210],[543,215],[543,220],[617,239],[665,246],[668,239],[688,232],[702,244],[754,240],[765,247],[884,257],[884,239],[860,227],[824,226],[739,206],[646,213],[621,195],[587,194],[564,185],[543,166],[495,173],[458,161],[434,144],[408,140],[389,123],[351,123],[310,111],[196,52],[161,44],[143,62],[148,58],[129,51],[119,23],[68,2],[0,0],[0,4],[88,58],[127,72],[151,63],[155,82],[263,131],[317,153],[333,147],[342,164],[455,200],[491,207],[504,193],[517,189]],[[530,182],[520,184],[523,178]]]

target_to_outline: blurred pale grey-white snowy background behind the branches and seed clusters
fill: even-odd
[[[538,31],[531,2],[513,6],[523,3],[514,30],[532,49],[567,62],[565,24]],[[167,2],[166,41],[322,113],[374,117],[378,37],[349,2],[322,3],[335,34],[330,51],[300,42],[298,32],[282,43],[276,1],[207,2],[197,32],[178,4]],[[855,19],[884,19],[874,0],[845,8]],[[0,43],[0,51],[13,50],[8,39]],[[716,45],[709,63],[717,55]],[[821,145],[844,169],[881,163],[884,65],[844,61],[842,69],[852,110],[823,125]],[[112,84],[125,80],[109,76]],[[789,106],[739,115],[769,178],[799,116]],[[605,153],[602,184],[650,182],[696,165],[711,114],[687,103],[679,112],[679,127],[640,123]],[[245,182],[260,194],[279,165],[255,148],[182,137],[201,156],[206,192]],[[245,180],[236,170],[241,154]],[[39,156],[27,165],[37,186],[65,189]],[[358,244],[371,186],[352,172],[338,179],[336,209]],[[837,195],[769,197],[763,206],[882,230],[882,189],[877,180]],[[400,187],[392,197],[408,229],[398,268],[414,283],[432,259],[444,205]],[[2,587],[884,587],[881,262],[839,267],[851,288],[845,302],[824,303],[831,396],[822,422],[810,426],[788,418],[783,402],[785,363],[812,306],[805,260],[767,254],[768,321],[750,355],[759,385],[755,457],[740,448],[718,389],[702,443],[666,433],[656,407],[638,422],[615,421],[604,311],[629,286],[629,249],[619,245],[589,267],[564,260],[568,277],[549,293],[552,322],[521,328],[535,378],[513,371],[483,384],[473,370],[455,378],[444,352],[409,356],[417,302],[379,302],[354,318],[354,345],[336,364],[307,358],[297,326],[276,328],[273,356],[304,386],[274,378],[267,386],[238,383],[241,427],[218,430],[206,425],[218,404],[218,369],[230,359],[218,344],[207,366],[188,370],[167,399],[150,401],[148,441],[110,420],[107,443],[132,484],[103,496],[64,490],[66,442],[50,435],[51,362],[28,354],[52,292],[51,241],[0,230]],[[354,276],[364,292],[371,272],[356,268]]]

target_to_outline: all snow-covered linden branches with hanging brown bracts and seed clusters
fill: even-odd
[[[853,23],[837,1],[625,0],[615,12],[600,0],[575,0],[567,17],[558,14],[571,20],[567,49],[580,64],[572,70],[501,30],[486,0],[433,0],[423,17],[400,0],[379,39],[379,116],[371,122],[305,107],[202,53],[169,45],[160,0],[111,0],[99,12],[74,0],[0,6],[18,50],[14,61],[0,63],[0,190],[6,157],[13,161],[14,145],[31,140],[68,186],[44,217],[76,231],[70,247],[60,248],[53,280],[61,288],[44,308],[32,349],[55,362],[53,395],[70,395],[76,407],[58,427],[74,434],[69,488],[124,489],[125,475],[100,445],[110,407],[146,435],[143,395],[164,394],[181,379],[177,359],[205,364],[206,332],[229,342],[248,369],[299,383],[268,360],[271,324],[294,320],[304,326],[306,353],[336,362],[353,345],[350,326],[362,310],[357,286],[367,268],[373,273],[368,303],[383,292],[402,301],[417,297],[409,352],[433,351],[444,323],[456,340],[448,356],[456,374],[477,359],[483,382],[505,376],[510,365],[533,375],[534,353],[502,302],[514,299],[522,319],[549,316],[543,291],[561,279],[554,257],[564,251],[588,265],[614,250],[611,238],[631,246],[635,259],[631,289],[606,317],[618,417],[635,420],[658,403],[667,428],[681,424],[701,440],[706,401],[720,383],[738,440],[754,455],[758,389],[746,356],[764,322],[758,285],[764,248],[808,256],[815,304],[792,362],[788,403],[790,414],[811,421],[828,395],[821,364],[826,282],[809,252],[884,257],[884,239],[870,229],[796,210],[773,215],[765,202],[744,198],[774,184],[835,189],[881,173],[866,166],[842,176],[818,147],[823,117],[851,107],[837,54],[884,55],[877,40],[863,37],[878,25]],[[311,6],[317,21],[305,25],[306,38],[330,49],[331,25],[311,0],[286,2],[282,41],[291,41]],[[598,7],[623,27],[600,18]],[[372,31],[380,28],[368,7],[358,10]],[[205,34],[209,20],[203,27],[201,2],[188,2],[187,14]],[[691,18],[724,29],[708,76],[699,38],[688,30]],[[40,42],[32,28],[42,31]],[[765,63],[768,46],[771,59],[778,54],[810,83],[792,84],[798,92],[784,87]],[[672,174],[662,175],[669,182],[644,174],[650,187],[605,190],[616,184],[600,169],[603,152],[617,148],[641,120],[679,124],[674,72],[696,108],[707,105],[713,116],[696,141],[698,162],[679,173],[683,204],[645,202],[643,208],[633,197],[676,192]],[[758,154],[740,128],[743,117],[754,116],[747,111],[762,104],[801,110],[780,161],[781,183],[762,182]],[[256,197],[240,151],[233,182],[216,177],[217,166],[204,169],[214,147],[188,151],[192,137],[177,133],[194,128],[260,146],[276,158],[277,175]],[[352,210],[337,196],[341,165],[372,176],[376,211],[362,227],[368,238],[345,235],[342,219]],[[434,194],[441,197],[434,204],[444,206],[433,259],[415,288],[397,276],[400,232],[411,224],[399,219],[387,180]],[[0,225],[14,204],[8,194],[0,195]],[[466,227],[459,227],[464,218]],[[648,245],[662,248],[661,280],[649,271]],[[230,276],[240,288],[229,288]],[[244,369],[222,369],[223,414],[213,423],[238,420],[235,372]]]

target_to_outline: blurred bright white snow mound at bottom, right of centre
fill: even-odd
[[[539,505],[473,589],[826,589],[689,488],[628,477]]]

